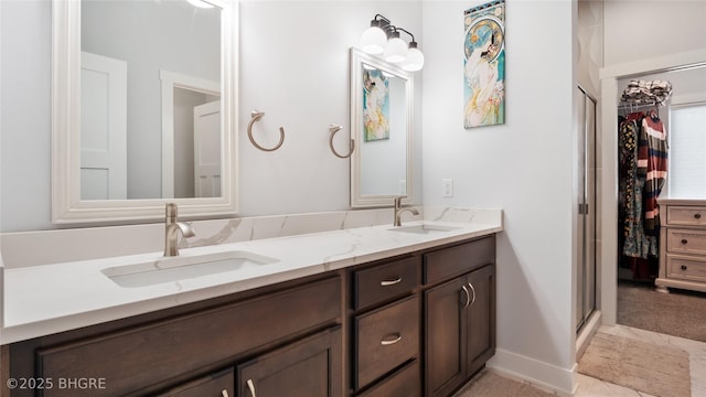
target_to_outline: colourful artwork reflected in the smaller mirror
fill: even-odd
[[[364,141],[389,139],[389,86],[376,68],[363,68]]]

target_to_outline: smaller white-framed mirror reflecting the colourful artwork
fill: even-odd
[[[414,78],[408,72],[351,49],[351,206],[413,202]]]

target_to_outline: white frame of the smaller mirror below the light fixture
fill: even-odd
[[[375,66],[381,71],[389,72],[406,81],[405,85],[405,108],[406,115],[406,130],[407,130],[407,164],[406,164],[406,191],[404,195],[403,204],[413,204],[414,192],[413,183],[413,152],[414,152],[414,75],[404,71],[402,67],[383,61],[376,56],[370,55],[362,50],[351,49],[351,136],[356,142],[355,150],[351,157],[351,207],[365,208],[365,207],[385,207],[392,206],[393,200],[403,194],[363,194],[362,192],[362,159],[361,159],[361,142],[363,142],[363,128],[360,122],[363,115],[363,96],[361,95],[360,87],[363,86],[363,76],[360,73],[362,64],[368,64]]]

